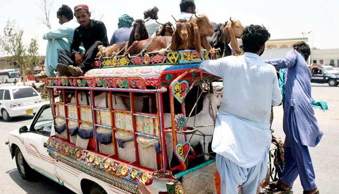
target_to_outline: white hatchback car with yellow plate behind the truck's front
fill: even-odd
[[[42,105],[40,94],[31,86],[0,88],[0,115],[4,121],[14,116],[34,114]]]

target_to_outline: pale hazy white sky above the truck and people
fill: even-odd
[[[39,44],[39,55],[46,55],[47,41],[43,34],[48,32],[42,24],[44,12],[42,0],[10,0],[1,3],[0,35],[8,20],[15,20],[16,26],[24,30],[23,42],[28,45],[31,38]],[[47,0],[51,2],[51,0]],[[108,40],[118,28],[118,17],[122,14],[143,19],[143,12],[156,6],[158,21],[174,23],[171,15],[179,16],[180,0],[53,0],[49,19],[58,27],[56,12],[62,4],[72,9],[77,4],[87,4],[91,18],[101,20],[107,28]],[[232,19],[243,25],[263,25],[271,39],[308,37],[308,44],[316,49],[339,48],[339,1],[338,0],[195,0],[198,14],[206,14],[216,23]],[[0,53],[0,56],[6,56]]]

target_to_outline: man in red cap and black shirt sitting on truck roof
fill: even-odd
[[[92,61],[99,51],[98,46],[109,45],[105,24],[102,21],[90,19],[91,12],[87,5],[76,5],[74,12],[80,26],[74,31],[71,53],[67,50],[59,51],[60,64],[57,65],[57,70],[60,76],[82,76],[92,67]],[[84,58],[78,53],[81,43],[86,50]]]

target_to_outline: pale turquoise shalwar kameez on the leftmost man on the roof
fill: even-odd
[[[73,42],[74,29],[79,26],[75,20],[63,23],[57,28],[52,28],[43,35],[48,40],[46,48],[45,72],[47,77],[54,77],[54,70],[58,62],[59,50],[70,51]]]

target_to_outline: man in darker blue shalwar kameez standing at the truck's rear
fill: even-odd
[[[299,42],[293,45],[293,50],[287,52],[284,58],[265,61],[276,69],[285,68],[285,166],[280,180],[271,184],[271,187],[288,191],[299,175],[303,194],[319,194],[308,146],[316,146],[323,132],[319,130],[312,108],[311,74],[306,64],[309,55],[309,46]]]

